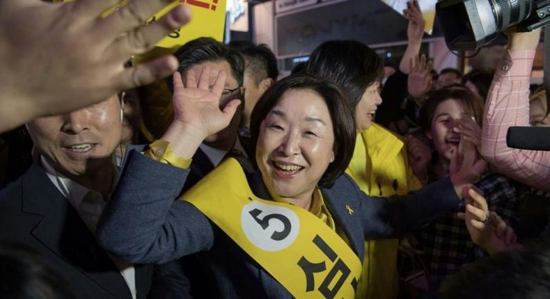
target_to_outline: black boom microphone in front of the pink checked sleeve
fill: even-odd
[[[506,145],[516,149],[550,151],[550,127],[510,127]]]

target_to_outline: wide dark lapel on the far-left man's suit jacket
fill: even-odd
[[[22,181],[23,211],[43,215],[31,234],[115,298],[131,298],[119,270],[37,163]]]

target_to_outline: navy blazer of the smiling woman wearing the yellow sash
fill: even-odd
[[[200,252],[210,275],[210,298],[292,298],[216,225],[189,202],[173,201],[188,170],[129,152],[120,184],[98,227],[104,248],[132,262],[165,262]],[[150,177],[157,178],[152,181]],[[249,179],[259,197],[268,198],[258,174]],[[322,189],[324,201],[352,250],[363,259],[364,241],[402,236],[445,213],[459,199],[450,180],[401,197],[369,197],[347,175]],[[355,211],[348,213],[347,207]]]

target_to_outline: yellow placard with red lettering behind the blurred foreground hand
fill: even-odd
[[[60,1],[74,1],[74,0],[54,0],[54,2]],[[105,11],[103,17],[110,15],[116,9],[125,6],[130,0],[122,0],[113,8]],[[193,12],[191,22],[185,24],[182,28],[173,31],[165,38],[157,43],[157,47],[163,48],[175,48],[184,45],[189,40],[194,40],[201,37],[211,37],[215,40],[223,40],[223,28],[226,22],[226,1],[227,0],[179,0],[173,1],[170,5],[166,6],[158,13],[155,13],[148,23],[155,22],[160,19],[168,11],[178,5],[178,3],[187,3]]]

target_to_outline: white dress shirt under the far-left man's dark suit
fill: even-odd
[[[58,189],[63,196],[69,200],[72,207],[77,210],[80,218],[86,224],[95,236],[97,221],[100,220],[101,214],[107,202],[103,199],[103,195],[96,191],[90,190],[67,177],[63,177],[57,172],[52,165],[49,165],[44,156],[40,156],[42,166],[46,171],[49,180]],[[120,270],[120,275],[123,276],[132,298],[136,299],[136,272],[133,264],[128,264],[125,261],[120,261],[116,257],[108,254],[113,264]]]

